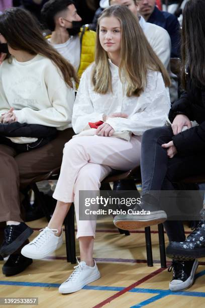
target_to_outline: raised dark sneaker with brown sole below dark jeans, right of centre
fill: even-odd
[[[135,230],[162,223],[166,219],[167,214],[158,205],[150,204],[141,199],[141,204],[134,205],[129,209],[129,213],[116,215],[114,224],[123,230]]]

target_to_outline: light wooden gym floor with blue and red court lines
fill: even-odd
[[[44,218],[28,223],[38,230],[46,226]],[[98,221],[94,258],[101,278],[72,294],[58,293],[73,265],[66,262],[65,244],[52,256],[34,260],[24,272],[6,277],[0,271],[0,297],[38,297],[33,307],[205,307],[205,259],[200,259],[194,284],[182,292],[169,291],[172,273],[160,268],[158,234],[152,227],[154,266],[146,264],[144,230],[130,236],[120,235],[112,221]],[[186,228],[188,233],[190,229]],[[167,237],[165,236],[167,243]],[[79,256],[76,241],[77,256]],[[4,261],[0,261],[2,267]],[[170,260],[167,260],[170,265]],[[1,306],[1,305],[0,305]],[[3,305],[1,306],[3,307]]]

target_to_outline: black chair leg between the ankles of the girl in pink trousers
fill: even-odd
[[[65,226],[65,246],[67,262],[76,263],[75,252],[75,220],[74,220],[74,205],[72,204],[64,220]]]

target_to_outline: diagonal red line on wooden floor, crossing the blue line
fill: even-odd
[[[138,280],[138,281],[132,283],[131,285],[129,285],[129,286],[126,287],[125,289],[123,289],[123,290],[117,292],[116,294],[114,294],[114,295],[108,297],[107,299],[101,301],[100,303],[98,303],[97,305],[93,306],[92,308],[100,308],[100,307],[106,305],[107,303],[110,303],[112,300],[114,300],[114,299],[118,298],[119,296],[121,296],[121,295],[127,293],[127,292],[130,291],[131,289],[134,289],[134,288],[135,288],[136,286],[138,286],[139,284],[141,284],[141,283],[147,281],[148,279],[150,279],[150,278],[156,276],[157,274],[161,273],[161,272],[164,271],[164,270],[165,270],[165,268],[159,268],[158,270],[154,271],[153,273],[151,273],[151,274],[145,276],[144,278],[142,278],[142,279],[140,279],[140,280]]]

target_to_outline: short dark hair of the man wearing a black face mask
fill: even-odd
[[[41,18],[47,29],[55,30],[55,16],[63,12],[70,5],[75,5],[72,0],[50,0],[46,2],[41,10]]]

